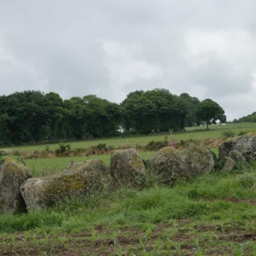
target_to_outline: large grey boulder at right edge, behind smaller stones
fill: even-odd
[[[240,137],[229,139],[219,145],[219,159],[230,157],[231,151],[239,151],[247,161],[256,157],[256,135],[245,134]]]

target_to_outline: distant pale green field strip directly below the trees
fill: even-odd
[[[205,128],[205,127],[203,127]],[[191,129],[195,131],[191,131]],[[221,138],[222,133],[225,130],[232,130],[234,133],[238,134],[241,131],[256,131],[256,123],[230,123],[226,125],[212,125],[209,131],[196,131],[197,129],[202,129],[199,127],[189,127],[187,132],[175,133],[174,142],[179,140],[188,140],[188,139],[198,139],[204,140],[207,138]],[[169,135],[166,134],[169,138]],[[146,145],[151,140],[163,140],[166,135],[150,135],[150,136],[138,136],[138,137],[115,137],[108,139],[95,139],[95,140],[85,140],[85,141],[76,141],[76,142],[65,142],[65,144],[70,144],[71,148],[79,147],[90,147],[91,145],[97,145],[99,143],[106,143],[107,146],[120,146],[123,143],[131,143],[132,146],[135,146],[136,143],[139,145]],[[43,144],[43,145],[29,145],[29,146],[16,146],[11,147],[13,150],[18,150],[19,152],[28,152],[32,150],[45,150],[46,146],[49,146],[50,150],[55,150],[59,143],[56,144]]]

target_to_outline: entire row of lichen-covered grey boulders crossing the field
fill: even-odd
[[[255,160],[256,136],[248,134],[223,142],[219,159],[228,172],[236,164]],[[204,147],[190,144],[181,153],[173,147],[163,147],[147,162],[147,168],[134,148],[114,151],[110,167],[101,160],[87,160],[46,177],[31,178],[23,160],[13,151],[0,151],[0,212],[16,214],[47,208],[63,199],[89,196],[103,189],[120,186],[142,188],[147,173],[154,174],[164,184],[188,180],[214,169],[212,153]]]

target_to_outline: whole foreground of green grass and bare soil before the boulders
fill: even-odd
[[[255,166],[0,215],[0,254],[256,255]]]

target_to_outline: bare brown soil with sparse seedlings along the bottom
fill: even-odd
[[[231,200],[229,198],[229,200]],[[241,201],[241,200],[240,200]],[[236,201],[237,202],[237,201]],[[68,235],[68,241],[60,245],[52,237],[49,237],[49,244],[39,243],[38,246],[33,244],[33,241],[27,241],[20,248],[2,249],[0,244],[0,255],[118,255],[118,250],[121,248],[121,255],[130,255],[133,253],[140,255],[142,253],[141,241],[145,245],[146,251],[153,249],[158,239],[170,239],[173,243],[180,244],[180,251],[185,255],[193,255],[197,251],[195,241],[199,241],[201,246],[207,246],[208,239],[199,240],[199,234],[203,232],[215,232],[220,241],[230,241],[242,243],[245,241],[256,240],[256,230],[246,230],[243,223],[229,222],[224,225],[195,225],[190,226],[189,220],[176,220],[176,225],[172,223],[156,224],[156,228],[151,231],[148,237],[145,237],[145,232],[136,227],[126,227],[118,232],[118,236],[114,238],[115,230],[106,229],[103,226],[95,226],[96,233],[95,241],[91,239],[91,230]],[[99,235],[104,234],[106,237],[99,238]],[[59,234],[59,238],[65,234]],[[44,236],[37,237],[40,241]],[[24,241],[22,234],[17,236],[16,241],[22,243]],[[177,250],[177,247],[170,246],[171,250]],[[220,248],[208,249],[210,255],[223,255],[223,249]],[[229,249],[224,249],[226,253]],[[44,254],[45,253],[45,254]],[[166,254],[167,255],[167,254]]]

